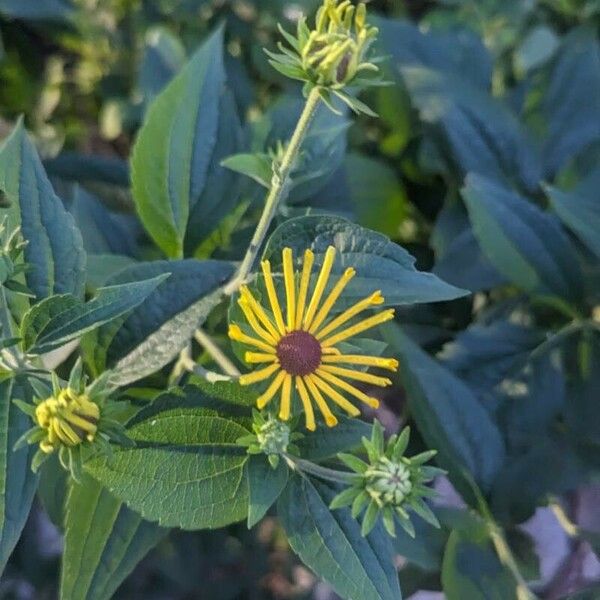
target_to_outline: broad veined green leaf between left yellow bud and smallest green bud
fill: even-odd
[[[163,526],[212,529],[240,521],[248,514],[248,456],[236,440],[249,429],[219,416],[214,399],[187,388],[184,394],[164,394],[156,401],[164,410],[149,407],[132,420],[127,433],[136,447],[85,467],[129,508]]]

